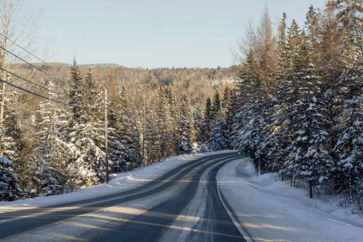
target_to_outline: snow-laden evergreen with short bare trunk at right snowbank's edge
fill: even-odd
[[[299,100],[291,115],[294,129],[288,169],[297,176],[306,178],[311,186],[328,178],[333,168],[329,155],[330,123],[326,118],[325,103],[316,97]],[[312,196],[312,191],[311,191]]]

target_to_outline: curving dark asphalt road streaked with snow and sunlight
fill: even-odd
[[[119,194],[2,213],[0,241],[246,241],[216,181],[237,158],[213,155]]]

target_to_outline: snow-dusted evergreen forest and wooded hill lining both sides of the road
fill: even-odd
[[[304,26],[287,23],[283,13],[277,28],[266,9],[238,41],[239,65],[230,68],[38,64],[58,81],[25,64],[7,68],[36,76],[74,105],[103,106],[107,89],[110,172],[236,149],[261,173],[307,184],[311,197],[317,189],[343,195],[362,211],[362,6],[328,1],[325,9],[308,9]],[[65,107],[7,88],[0,152],[12,162],[0,160],[0,200],[105,181],[102,109]]]

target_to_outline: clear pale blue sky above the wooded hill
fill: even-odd
[[[37,38],[49,62],[126,67],[228,67],[231,49],[265,5],[302,25],[310,5],[325,0],[28,0],[42,12]],[[41,42],[41,41],[40,41]]]

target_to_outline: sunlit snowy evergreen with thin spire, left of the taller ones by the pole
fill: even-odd
[[[48,88],[54,89],[51,82]],[[53,92],[48,96],[56,98]],[[69,158],[68,147],[60,132],[67,125],[65,111],[58,104],[45,100],[40,103],[37,116],[33,154],[26,164],[29,176],[26,187],[32,196],[61,194],[68,178],[66,166]]]

